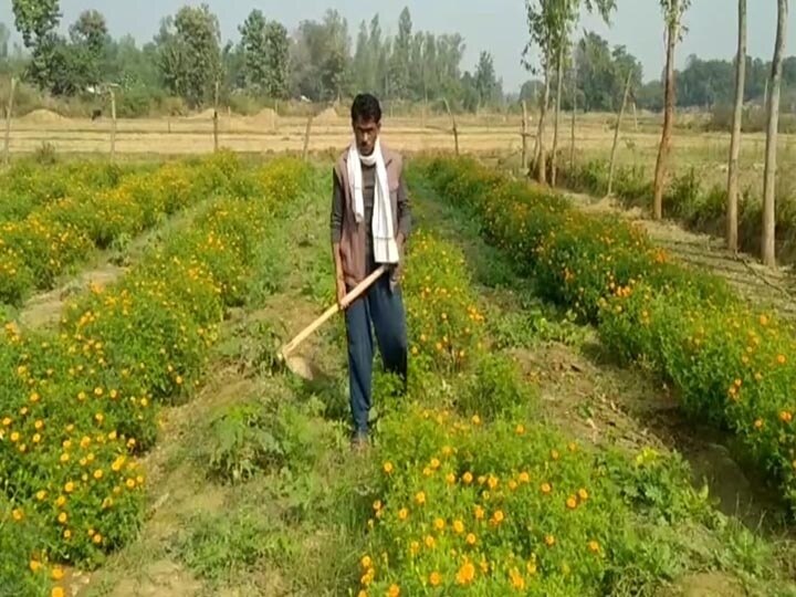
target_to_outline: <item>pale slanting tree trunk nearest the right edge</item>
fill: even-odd
[[[787,25],[787,0],[777,1],[777,34],[772,63],[771,85],[768,88],[768,134],[766,135],[766,165],[763,175],[763,263],[776,265],[774,248],[774,228],[776,211],[774,191],[776,186],[776,150],[779,127],[779,91],[782,85],[783,53]]]

